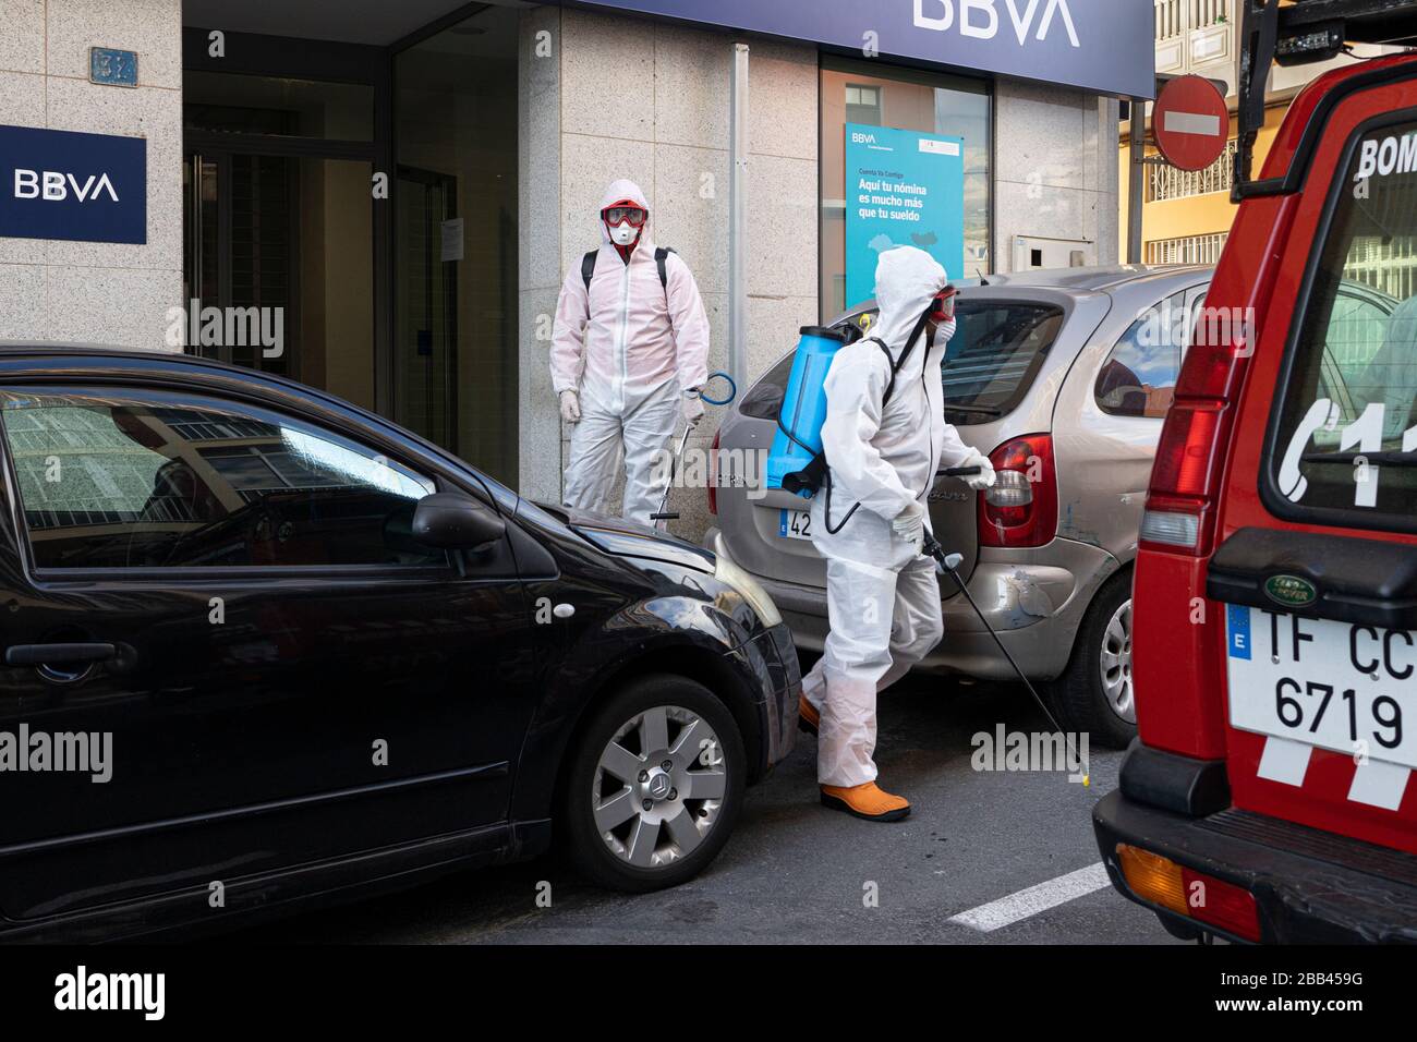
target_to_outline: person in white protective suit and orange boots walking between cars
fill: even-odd
[[[801,715],[818,732],[822,802],[869,821],[900,821],[910,802],[876,784],[876,695],[942,634],[939,583],[922,556],[927,499],[944,468],[988,456],[944,418],[941,363],[955,333],[952,291],[930,254],[897,247],[876,268],[880,318],[837,352],[826,376],[828,483],[812,499],[812,542],[826,559],[830,631],[802,682]]]

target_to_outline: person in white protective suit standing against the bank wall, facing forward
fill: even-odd
[[[652,525],[655,462],[680,417],[704,414],[708,318],[689,265],[650,240],[638,184],[611,184],[598,218],[601,247],[567,272],[553,330],[551,386],[572,424],[564,503],[609,513],[623,456],[623,516]]]

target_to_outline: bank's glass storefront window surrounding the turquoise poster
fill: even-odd
[[[823,55],[822,149],[822,320],[862,301],[846,299],[846,125],[888,126],[964,139],[965,268],[951,278],[992,271],[989,257],[989,85],[880,62]]]

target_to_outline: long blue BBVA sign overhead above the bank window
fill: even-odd
[[[853,51],[1155,96],[1151,0],[571,0]]]

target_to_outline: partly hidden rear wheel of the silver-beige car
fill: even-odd
[[[1131,608],[1132,573],[1128,568],[1110,578],[1093,598],[1067,671],[1050,685],[1053,707],[1064,730],[1087,733],[1090,743],[1105,749],[1125,749],[1136,737]]]

